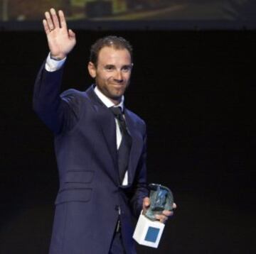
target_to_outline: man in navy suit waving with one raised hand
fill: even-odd
[[[85,92],[60,94],[63,65],[75,46],[63,11],[45,13],[43,26],[50,54],[36,79],[33,108],[55,134],[60,189],[50,254],[136,253],[132,215],[149,203],[146,189],[146,126],[124,107],[132,72],[132,47],[107,36],[92,45],[88,71],[95,79]],[[122,131],[119,116],[125,123]],[[119,171],[119,150],[129,136],[128,160]],[[124,159],[122,159],[124,160]],[[122,162],[122,161],[121,161]],[[159,221],[172,212],[164,211]]]

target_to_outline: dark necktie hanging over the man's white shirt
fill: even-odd
[[[124,174],[128,170],[129,165],[129,153],[132,145],[132,138],[129,136],[127,131],[127,126],[125,123],[124,116],[122,115],[121,108],[111,107],[110,110],[114,114],[114,117],[117,118],[117,122],[122,133],[122,140],[117,150],[118,155],[118,170],[119,170],[119,180],[122,183],[124,180]]]

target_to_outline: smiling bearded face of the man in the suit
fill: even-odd
[[[95,83],[114,104],[119,104],[125,90],[129,86],[132,72],[131,55],[127,49],[104,47],[100,50],[97,66],[92,62],[88,70]]]

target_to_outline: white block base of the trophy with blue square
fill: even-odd
[[[164,231],[164,226],[164,223],[151,221],[141,214],[132,237],[141,245],[157,248]]]

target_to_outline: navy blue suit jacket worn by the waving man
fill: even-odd
[[[33,109],[55,134],[60,189],[50,254],[104,254],[121,209],[122,238],[127,253],[135,253],[132,214],[142,210],[146,190],[146,126],[124,109],[132,136],[128,185],[122,187],[117,169],[114,116],[94,92],[69,89],[60,94],[63,68],[36,79]]]

